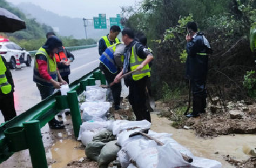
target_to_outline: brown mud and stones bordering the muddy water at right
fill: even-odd
[[[220,104],[210,104],[207,106],[206,114],[198,118],[186,118],[183,115],[187,107],[184,100],[159,101],[156,105],[161,116],[173,120],[175,128],[193,129],[198,137],[209,139],[218,135],[256,133],[256,105],[247,105],[243,101],[228,102],[225,109],[221,108]],[[255,149],[253,151],[255,156]],[[243,161],[229,155],[224,158],[237,168],[256,167],[256,157]]]

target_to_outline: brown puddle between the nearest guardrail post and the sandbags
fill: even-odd
[[[49,167],[66,167],[70,161],[79,160],[80,158],[85,157],[85,152],[83,149],[75,148],[79,145],[79,141],[72,139],[61,140],[52,144],[52,148],[48,149],[46,156],[47,160],[50,158],[51,160],[54,160],[56,162]]]

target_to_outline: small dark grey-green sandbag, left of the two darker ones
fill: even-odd
[[[89,142],[85,148],[85,155],[88,159],[97,161],[101,149],[106,145],[104,142]]]

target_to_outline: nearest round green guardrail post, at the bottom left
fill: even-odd
[[[47,160],[38,120],[23,123],[33,168],[47,168]]]

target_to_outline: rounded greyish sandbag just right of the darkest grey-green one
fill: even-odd
[[[116,160],[116,155],[120,151],[120,147],[116,145],[116,141],[111,141],[104,146],[98,157],[100,168],[108,168],[108,164]]]

